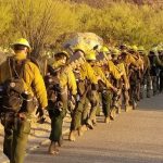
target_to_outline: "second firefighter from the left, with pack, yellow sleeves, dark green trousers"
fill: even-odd
[[[45,77],[48,92],[48,111],[51,118],[51,133],[49,146],[50,154],[58,154],[57,146],[62,143],[62,124],[67,111],[68,95],[76,96],[77,86],[74,73],[67,63],[67,52],[54,54],[54,62],[48,66]]]

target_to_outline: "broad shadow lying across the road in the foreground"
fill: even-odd
[[[43,150],[34,151],[32,156],[35,155],[45,155],[47,158],[47,162],[53,160],[53,162],[61,163],[64,161],[68,161],[71,163],[162,163],[163,156],[161,151],[153,151],[153,147],[155,145],[145,143],[139,145],[133,143],[133,147],[126,143],[124,145],[124,149],[114,149],[115,142],[110,142],[110,146],[104,148],[96,148],[90,146],[79,146],[74,148],[71,142],[67,142],[64,148],[61,148],[61,153],[59,155],[49,155],[47,153],[48,146],[43,147]],[[145,149],[139,149],[140,147],[145,147]],[[159,149],[163,149],[163,146],[160,145]],[[51,158],[53,156],[53,159]],[[49,161],[48,161],[49,160]],[[41,161],[40,161],[41,162]]]

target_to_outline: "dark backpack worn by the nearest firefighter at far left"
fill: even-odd
[[[24,71],[25,61],[8,60],[10,78],[0,86],[0,110],[1,112],[18,112],[23,105],[25,95],[25,82],[21,77]],[[18,72],[17,72],[18,68]]]

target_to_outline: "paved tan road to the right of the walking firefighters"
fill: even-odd
[[[67,141],[57,156],[48,145],[32,151],[25,163],[163,163],[163,96],[146,99],[139,110],[99,124],[77,141]]]

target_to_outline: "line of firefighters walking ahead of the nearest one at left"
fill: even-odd
[[[45,76],[51,154],[59,153],[57,146],[62,145],[62,124],[67,111],[72,116],[68,139],[75,141],[77,135],[93,129],[101,106],[104,122],[110,123],[122,108],[126,112],[135,110],[145,92],[150,98],[163,89],[161,48],[148,53],[143,47],[126,45],[89,52],[76,47],[72,51],[72,55],[65,51],[55,53]]]

